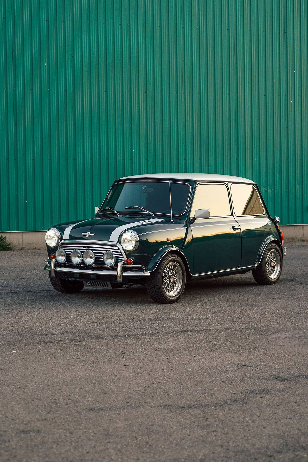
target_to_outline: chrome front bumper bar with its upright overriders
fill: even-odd
[[[128,268],[131,271],[127,271]],[[91,276],[91,274],[97,274],[101,276],[116,276],[117,282],[122,282],[122,276],[130,276],[130,277],[142,277],[142,276],[150,276],[150,273],[148,271],[145,271],[145,267],[142,265],[130,265],[130,266],[123,266],[123,263],[118,263],[117,271],[111,270],[111,269],[80,269],[78,267],[76,268],[67,268],[67,267],[61,267],[57,266],[55,267],[55,259],[48,261],[45,260],[45,267],[47,271],[50,271],[51,277],[55,277],[55,271],[60,271],[61,273],[77,273],[77,274],[88,274]],[[132,271],[134,269],[134,271]],[[136,269],[140,269],[140,271],[136,271]]]

